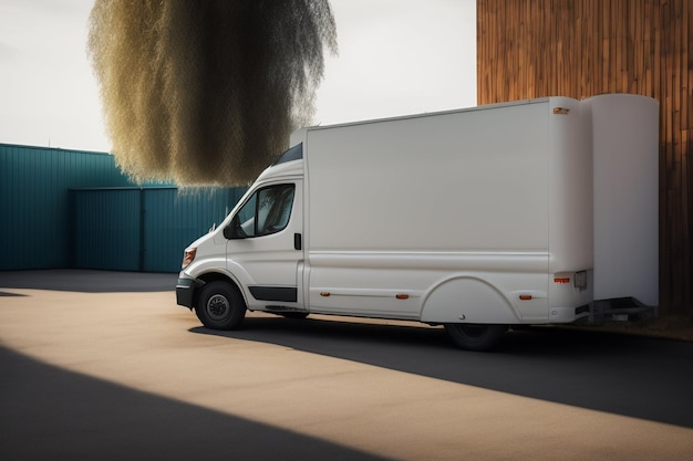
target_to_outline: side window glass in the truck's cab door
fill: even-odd
[[[294,185],[270,186],[258,190],[238,210],[238,237],[260,237],[283,230],[291,217]]]

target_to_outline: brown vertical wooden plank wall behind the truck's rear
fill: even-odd
[[[693,321],[693,1],[477,0],[478,104],[660,102],[660,306]]]

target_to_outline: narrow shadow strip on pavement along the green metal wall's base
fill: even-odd
[[[175,292],[178,274],[81,269],[0,271],[1,289],[54,290],[83,293]],[[11,293],[4,293],[11,295]]]

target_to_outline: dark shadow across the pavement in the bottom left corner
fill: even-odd
[[[4,347],[0,364],[2,460],[384,460],[65,371]]]

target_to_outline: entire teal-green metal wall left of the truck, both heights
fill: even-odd
[[[135,187],[108,154],[0,144],[0,271],[177,272],[246,188]]]

